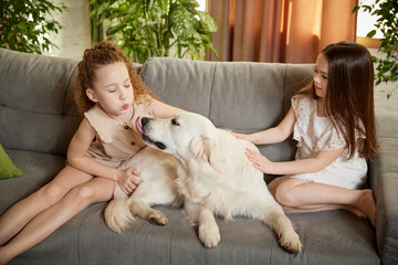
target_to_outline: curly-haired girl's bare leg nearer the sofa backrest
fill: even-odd
[[[92,178],[66,166],[46,186],[15,203],[0,218],[0,246],[18,234],[35,215],[59,202],[72,188]]]

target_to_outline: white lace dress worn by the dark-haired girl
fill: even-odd
[[[297,140],[296,160],[314,157],[321,150],[334,150],[346,146],[346,141],[327,117],[318,117],[316,100],[296,95],[292,98],[292,107],[296,116],[293,139]],[[365,138],[356,132],[356,138]],[[347,159],[348,149],[333,163],[314,173],[301,173],[275,178],[269,189],[275,188],[287,178],[296,178],[347,189],[362,189],[366,183],[367,163],[359,158],[358,151],[352,159]]]

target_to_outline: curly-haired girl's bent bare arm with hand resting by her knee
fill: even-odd
[[[133,168],[126,170],[112,168],[87,157],[85,152],[94,137],[94,128],[90,125],[88,120],[84,118],[67,149],[69,163],[86,173],[117,181],[125,193],[132,193],[135,186],[140,182],[134,178],[134,176],[139,176],[139,172]]]

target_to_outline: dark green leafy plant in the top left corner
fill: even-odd
[[[46,33],[57,33],[62,25],[49,19],[52,12],[63,12],[65,6],[49,0],[0,1],[0,46],[9,50],[39,53],[55,46]]]

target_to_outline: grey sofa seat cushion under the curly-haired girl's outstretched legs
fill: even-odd
[[[23,176],[0,180],[0,214],[51,181],[65,165],[62,156],[10,149],[6,151]],[[70,247],[77,247],[77,235],[78,222],[72,220],[10,264],[78,264],[76,248]]]

